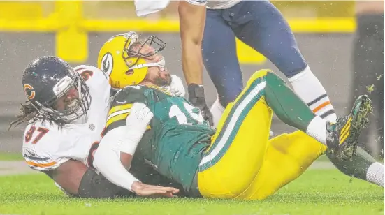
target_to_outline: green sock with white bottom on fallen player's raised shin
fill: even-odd
[[[321,119],[274,73],[266,75],[266,103],[285,124],[326,144],[326,120]]]

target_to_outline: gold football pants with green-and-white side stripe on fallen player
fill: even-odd
[[[266,198],[326,151],[302,131],[268,139],[273,111],[264,97],[267,73],[254,73],[226,107],[199,165],[198,190],[204,198]]]

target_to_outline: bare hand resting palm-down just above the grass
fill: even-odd
[[[136,195],[150,198],[167,197],[172,198],[174,194],[179,190],[173,187],[154,186],[149,184],[143,184],[142,182],[135,181],[131,186],[131,190]]]

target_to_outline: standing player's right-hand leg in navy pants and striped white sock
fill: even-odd
[[[235,35],[275,64],[313,112],[335,121],[337,116],[326,90],[300,53],[282,13],[270,1],[244,1],[242,4],[240,9],[234,10],[238,11],[238,16],[248,17],[249,21],[235,26]]]

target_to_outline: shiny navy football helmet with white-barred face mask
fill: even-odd
[[[43,117],[64,124],[74,124],[80,117],[87,121],[91,104],[89,88],[80,74],[62,59],[43,56],[32,61],[24,70],[22,84],[29,102]],[[64,100],[70,92],[76,93],[75,98],[67,100],[63,110],[58,110],[57,101]]]

